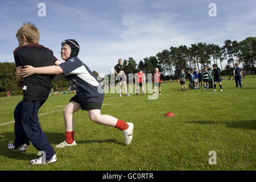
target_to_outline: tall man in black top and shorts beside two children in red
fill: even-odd
[[[119,59],[118,64],[115,65],[115,74],[117,75],[117,80],[119,81],[118,82],[118,84],[119,84],[119,97],[122,97],[122,95],[121,95],[121,86],[122,86],[122,84],[125,87],[126,96],[131,96],[127,92],[126,76],[125,76],[125,71],[124,71],[123,65],[122,65],[122,59]]]

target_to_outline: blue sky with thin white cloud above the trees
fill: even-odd
[[[46,5],[42,17],[41,2]],[[208,15],[209,3],[216,3],[216,17]],[[1,0],[1,62],[14,62],[15,34],[23,22],[36,24],[39,44],[52,49],[58,59],[61,42],[76,39],[79,58],[92,71],[109,73],[119,58],[133,57],[139,63],[171,46],[223,46],[226,39],[256,36],[256,0]]]

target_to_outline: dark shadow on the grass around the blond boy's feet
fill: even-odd
[[[52,144],[52,147],[55,147],[55,143],[59,144],[60,142],[63,142],[65,139],[65,135],[63,133],[48,133],[46,132],[47,139]],[[11,159],[19,159],[19,160],[31,160],[35,158],[36,154],[27,154],[27,152],[20,152],[17,150],[10,151],[7,148],[7,144],[10,142],[13,142],[15,138],[14,132],[6,132],[6,133],[0,133],[0,155],[6,156],[7,158]],[[31,142],[30,146],[28,146],[28,150],[33,147]]]

